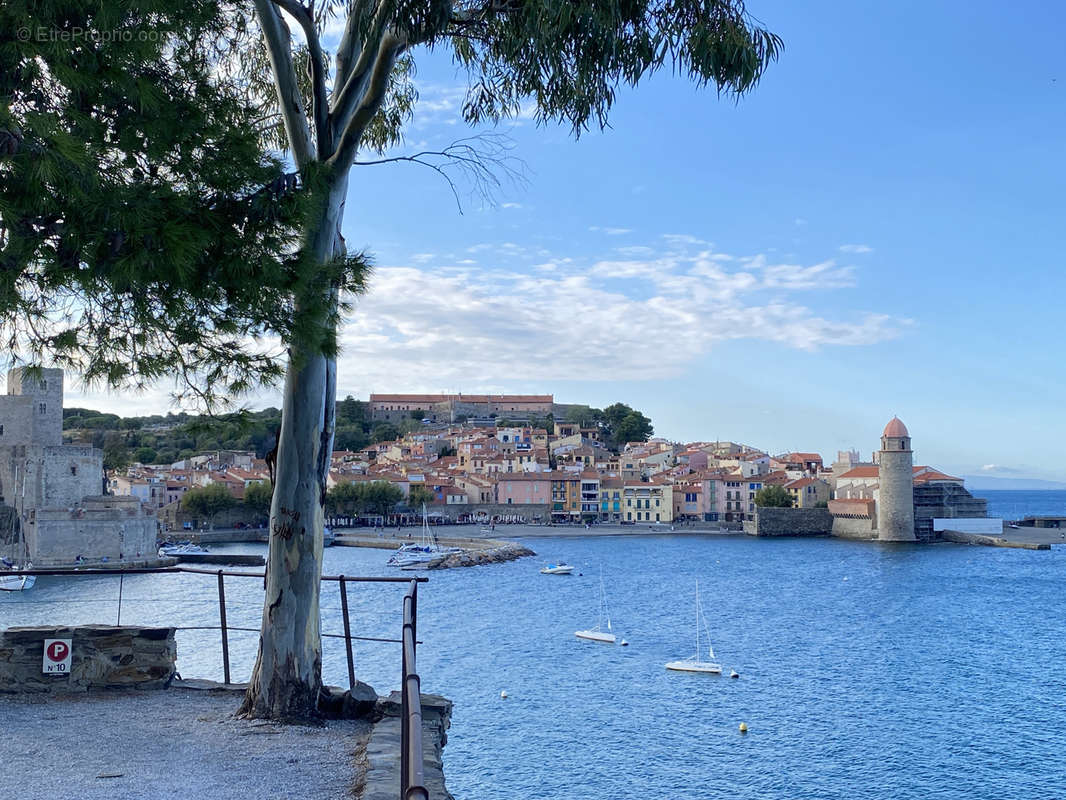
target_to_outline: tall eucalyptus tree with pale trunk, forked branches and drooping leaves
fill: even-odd
[[[242,711],[312,715],[321,685],[319,574],[336,394],[338,287],[323,281],[345,257],[341,224],[356,158],[399,141],[416,102],[419,48],[466,68],[463,116],[496,122],[523,103],[575,134],[603,126],[620,86],[660,68],[720,93],[752,89],[781,43],[742,0],[254,0],[265,63],[242,66],[273,84],[273,109],[316,197],[301,240],[307,272],[294,298],[303,336],[289,343],[259,655]],[[323,32],[342,25],[335,51]],[[247,51],[245,51],[247,52]],[[260,97],[262,95],[260,94]],[[446,150],[483,166],[469,146]],[[356,190],[353,195],[359,198]]]

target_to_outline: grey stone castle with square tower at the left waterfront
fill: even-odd
[[[63,444],[63,370],[7,373],[0,396],[0,555],[35,566],[156,557],[158,522],[103,494],[103,453]]]

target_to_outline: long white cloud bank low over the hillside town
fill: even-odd
[[[342,331],[339,371],[360,375],[368,388],[395,387],[398,375],[407,375],[404,390],[506,385],[516,375],[546,385],[575,375],[664,379],[730,339],[814,351],[891,339],[908,323],[875,313],[828,318],[788,299],[853,286],[852,270],[833,260],[803,266],[755,256],[730,270],[714,255],[690,246],[462,274],[379,267]]]

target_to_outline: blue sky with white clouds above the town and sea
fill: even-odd
[[[575,139],[471,130],[446,53],[417,53],[400,153],[499,137],[491,202],[431,170],[357,166],[343,226],[376,267],[339,395],[626,402],[675,441],[1066,480],[1066,10],[1046,2],[750,0],[785,41],[733,101],[660,74]],[[263,393],[252,407],[278,404]],[[68,405],[167,410],[68,389]]]

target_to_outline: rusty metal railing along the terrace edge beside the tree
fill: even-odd
[[[86,567],[78,570],[20,570],[19,575],[117,575],[118,576],[118,613],[117,624],[122,624],[123,578],[126,575],[150,575],[156,573],[191,573],[195,575],[214,575],[219,580],[219,625],[175,626],[176,630],[219,630],[222,635],[222,667],[225,683],[230,682],[229,671],[229,631],[241,630],[258,634],[259,628],[238,627],[226,622],[226,577],[264,579],[262,572],[238,572],[231,570],[201,570],[193,566],[156,566],[115,570],[104,567]],[[346,575],[323,575],[322,580],[336,581],[340,590],[341,615],[344,622],[343,634],[321,634],[323,638],[343,639],[348,660],[349,688],[355,688],[355,658],[352,652],[353,641],[393,642],[402,649],[401,656],[401,719],[400,719],[400,798],[401,800],[430,800],[425,788],[422,768],[422,702],[421,678],[417,671],[416,651],[418,642],[418,585],[424,583],[424,577],[353,577]],[[406,583],[407,591],[403,596],[403,626],[400,639],[386,639],[370,636],[353,636],[352,624],[348,611],[348,583]]]

